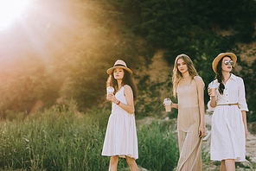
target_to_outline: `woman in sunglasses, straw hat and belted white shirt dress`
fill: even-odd
[[[212,117],[211,160],[221,161],[221,171],[235,171],[235,161],[246,156],[246,93],[243,79],[230,73],[237,57],[219,54],[213,61],[216,77],[208,87]],[[215,90],[215,94],[214,94]]]

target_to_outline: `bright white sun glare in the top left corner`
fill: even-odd
[[[0,0],[0,27],[10,24],[28,3],[29,0]]]

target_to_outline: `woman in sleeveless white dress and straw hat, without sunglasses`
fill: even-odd
[[[114,87],[113,94],[107,95],[112,101],[112,114],[109,117],[102,155],[111,156],[110,171],[116,171],[118,157],[126,159],[131,171],[138,171],[138,139],[134,115],[134,102],[137,86],[131,77],[125,61],[117,60],[106,73],[109,77],[106,86]]]

